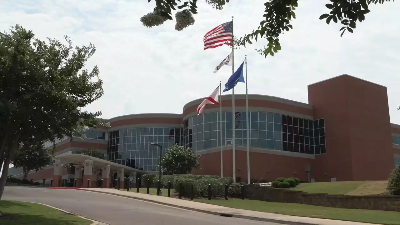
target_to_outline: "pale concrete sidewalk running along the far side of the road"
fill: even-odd
[[[153,203],[158,203],[162,205],[168,205],[172,207],[177,207],[181,209],[188,209],[192,211],[198,211],[202,213],[208,213],[213,215],[220,215],[226,217],[236,217],[243,219],[252,219],[258,221],[272,222],[272,223],[282,223],[282,224],[290,224],[290,225],[372,225],[372,223],[359,223],[359,222],[350,222],[350,221],[339,221],[332,219],[318,219],[318,218],[310,218],[310,217],[297,217],[297,216],[288,216],[274,213],[263,213],[257,211],[250,211],[244,209],[233,209],[228,207],[222,207],[218,205],[211,205],[206,203],[199,203],[194,201],[187,201],[177,198],[168,198],[157,195],[147,195],[136,192],[128,192],[123,190],[116,189],[98,189],[98,188],[82,188],[79,190],[83,191],[92,191],[97,193],[104,193],[110,195],[117,195],[121,197],[128,197],[132,199],[139,199],[143,201],[149,201]]]

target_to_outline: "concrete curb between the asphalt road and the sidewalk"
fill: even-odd
[[[87,189],[78,189],[78,190],[90,191],[90,192],[101,193],[101,194],[106,194],[106,195],[114,195],[114,196],[119,196],[119,197],[126,197],[126,198],[130,198],[130,199],[137,199],[137,200],[141,200],[141,201],[147,201],[147,202],[151,202],[151,203],[157,203],[160,205],[167,205],[170,207],[186,209],[186,210],[190,210],[190,211],[196,211],[196,212],[200,212],[200,213],[206,213],[206,214],[217,215],[217,216],[222,216],[222,217],[250,219],[250,220],[256,220],[256,221],[263,221],[263,222],[269,222],[269,223],[280,223],[280,224],[287,224],[287,225],[321,225],[320,223],[292,222],[292,221],[284,221],[284,220],[279,220],[279,219],[268,219],[268,218],[264,218],[264,217],[237,215],[237,214],[233,214],[233,213],[220,213],[220,212],[208,211],[208,210],[204,210],[204,209],[196,209],[196,208],[191,208],[191,207],[174,205],[174,204],[170,204],[170,203],[164,203],[164,202],[159,202],[159,201],[155,201],[155,200],[151,200],[151,199],[144,199],[144,198],[140,198],[140,197],[120,195],[117,193],[104,193],[102,191],[87,190]],[[181,199],[181,200],[188,201],[188,200],[183,200],[183,199]],[[229,208],[229,207],[227,207],[227,208]],[[346,221],[346,222],[350,222],[350,221]]]

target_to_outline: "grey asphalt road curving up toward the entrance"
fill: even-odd
[[[43,203],[109,225],[278,225],[221,217],[89,191],[5,187],[2,199]]]

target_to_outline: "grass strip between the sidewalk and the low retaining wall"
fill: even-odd
[[[393,211],[339,209],[314,205],[274,203],[248,199],[213,199],[211,201],[208,201],[208,199],[195,199],[194,201],[235,209],[246,209],[266,213],[278,213],[284,215],[336,219],[364,223],[400,225],[400,212]]]

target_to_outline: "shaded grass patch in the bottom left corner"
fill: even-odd
[[[89,225],[93,223],[35,203],[1,200],[0,211],[12,214],[11,219],[0,217],[1,225]]]

